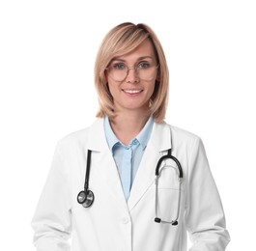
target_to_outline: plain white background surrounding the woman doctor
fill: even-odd
[[[254,249],[256,8],[248,0],[1,1],[1,246],[34,250],[30,221],[56,143],[95,120],[95,56],[123,21],[149,24],[162,42],[166,121],[204,141],[227,250]]]

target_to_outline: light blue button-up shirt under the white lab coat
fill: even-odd
[[[132,182],[135,179],[140,161],[147,147],[153,124],[154,119],[151,116],[140,133],[129,142],[128,146],[125,146],[116,137],[109,124],[108,118],[104,118],[106,141],[116,162],[124,194],[127,200]]]

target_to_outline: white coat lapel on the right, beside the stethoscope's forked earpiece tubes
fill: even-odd
[[[171,131],[165,123],[154,124],[152,136],[143,154],[128,198],[131,210],[140,201],[156,179],[156,163],[159,157],[171,148]]]

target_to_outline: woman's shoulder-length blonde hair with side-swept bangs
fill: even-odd
[[[100,44],[95,63],[95,85],[100,103],[97,117],[107,116],[111,119],[115,116],[113,98],[107,84],[106,68],[113,58],[131,52],[145,40],[152,42],[158,64],[156,86],[150,100],[149,111],[156,122],[164,120],[168,102],[169,70],[162,46],[148,25],[142,23],[135,25],[130,22],[114,27]]]

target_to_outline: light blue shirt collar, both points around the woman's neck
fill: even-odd
[[[154,125],[154,119],[151,116],[149,118],[149,120],[147,121],[146,125],[142,128],[142,130],[139,132],[139,134],[135,137],[135,139],[140,143],[143,150],[147,147],[147,144],[149,142],[150,135],[152,132],[153,125]],[[109,119],[107,117],[104,118],[104,130],[105,130],[106,141],[107,141],[108,147],[111,151],[113,150],[113,147],[117,143],[122,144],[119,141],[119,139],[116,137],[115,133],[113,132],[113,130],[110,126],[110,123],[109,123]],[[130,143],[133,142],[133,140],[131,140]]]

